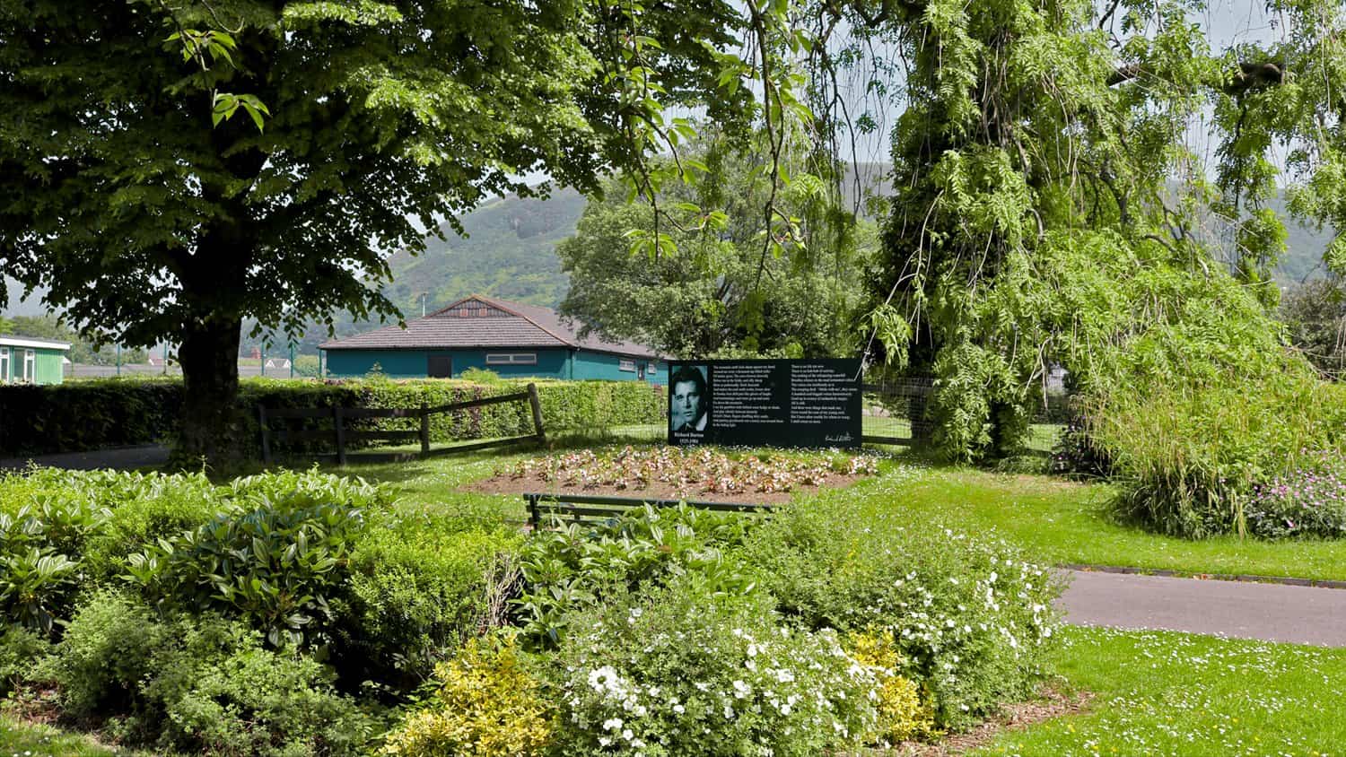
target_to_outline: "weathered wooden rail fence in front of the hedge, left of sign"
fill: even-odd
[[[431,449],[429,445],[429,418],[431,415],[440,413],[456,413],[459,410],[470,410],[472,407],[485,407],[487,405],[499,405],[503,402],[528,402],[533,411],[533,429],[534,433],[509,437],[509,438],[494,438],[489,441],[479,441],[471,444],[455,444],[451,446],[441,446],[439,449]],[[272,429],[271,424],[277,420],[291,420],[291,418],[331,418],[332,428],[328,429]],[[365,418],[420,418],[420,429],[417,430],[350,430],[346,428],[346,421],[365,420]],[[516,394],[502,394],[499,397],[485,397],[482,399],[468,399],[466,402],[451,402],[448,405],[437,405],[431,407],[428,405],[421,405],[420,407],[272,407],[268,409],[262,405],[257,406],[257,421],[261,425],[261,459],[262,463],[269,464],[272,461],[272,442],[273,441],[323,441],[331,440],[335,446],[335,457],[338,465],[345,465],[351,457],[358,459],[363,463],[400,463],[405,460],[417,460],[423,457],[431,457],[436,454],[451,454],[455,452],[468,452],[472,449],[486,449],[490,446],[503,446],[510,444],[520,444],[525,441],[536,441],[537,444],[546,444],[546,432],[542,428],[542,405],[537,399],[537,386],[528,385],[528,390]],[[359,453],[349,454],[347,445],[351,442],[365,442],[365,441],[382,441],[382,442],[413,442],[420,441],[420,452],[382,452],[382,453]]]

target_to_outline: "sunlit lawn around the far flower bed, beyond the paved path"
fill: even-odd
[[[416,463],[351,465],[346,472],[393,483],[413,503],[503,508],[507,518],[522,520],[524,506],[517,495],[468,493],[460,487],[486,479],[497,467],[525,454],[536,452],[483,450]],[[818,496],[863,497],[875,518],[898,518],[917,527],[938,523],[995,534],[1038,561],[1058,565],[1346,580],[1346,541],[1261,542],[1224,536],[1191,542],[1160,536],[1117,522],[1108,506],[1112,493],[1106,484],[933,467],[899,452],[884,463],[882,476]]]

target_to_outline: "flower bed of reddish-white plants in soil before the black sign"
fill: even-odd
[[[521,460],[497,468],[471,489],[771,504],[821,487],[848,487],[878,472],[878,459],[870,454],[727,454],[707,448],[626,446]]]

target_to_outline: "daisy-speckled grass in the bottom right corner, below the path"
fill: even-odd
[[[988,757],[1342,754],[1346,649],[1066,628],[1053,653],[1085,713],[1005,731]]]

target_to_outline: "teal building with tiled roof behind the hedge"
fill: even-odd
[[[647,347],[580,336],[555,311],[474,294],[425,317],[319,347],[326,375],[455,378],[486,368],[506,378],[668,383],[668,363]]]

